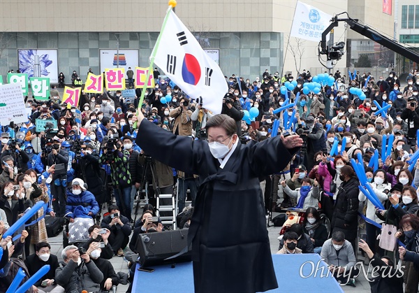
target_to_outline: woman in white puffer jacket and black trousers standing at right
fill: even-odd
[[[378,201],[381,201],[383,206],[385,206],[385,201],[388,199],[388,192],[390,192],[391,184],[387,181],[387,173],[383,169],[378,169],[374,172],[374,179],[372,183],[367,183],[371,185],[372,190],[374,190],[374,193],[376,194]],[[366,217],[369,220],[373,220],[374,222],[377,222],[378,224],[383,223],[383,220],[380,220],[376,216],[376,208],[374,204],[367,199],[367,196],[360,192],[358,195],[358,199],[360,201],[366,201],[367,204],[367,212]],[[381,229],[374,226],[373,224],[369,224],[368,222],[365,222],[365,229],[367,231],[367,243],[369,248],[375,253],[375,247],[376,247],[376,238],[378,234],[381,233]],[[381,253],[382,254],[382,251]]]

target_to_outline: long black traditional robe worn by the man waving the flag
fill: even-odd
[[[189,228],[195,292],[263,292],[277,285],[258,176],[285,168],[297,149],[279,136],[240,142],[223,169],[206,141],[143,120],[137,144],[155,159],[200,176]],[[279,155],[280,154],[280,155]]]

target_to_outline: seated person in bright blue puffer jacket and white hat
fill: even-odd
[[[94,218],[99,205],[94,195],[87,191],[87,186],[80,178],[73,179],[71,190],[67,190],[66,217],[74,222],[76,217]]]

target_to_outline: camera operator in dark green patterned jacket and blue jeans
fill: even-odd
[[[110,177],[114,186],[117,206],[121,208],[121,214],[131,220],[131,173],[129,171],[129,153],[122,150],[122,142],[119,138],[110,138],[105,143],[105,148],[99,164],[110,165]]]

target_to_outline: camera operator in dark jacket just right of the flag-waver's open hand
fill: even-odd
[[[314,154],[319,151],[328,151],[323,125],[311,114],[305,120],[305,127],[300,127],[300,125],[299,123],[297,134],[307,146],[304,153],[304,165],[307,166],[307,170],[311,170],[314,167]],[[304,151],[304,146],[301,151]]]

